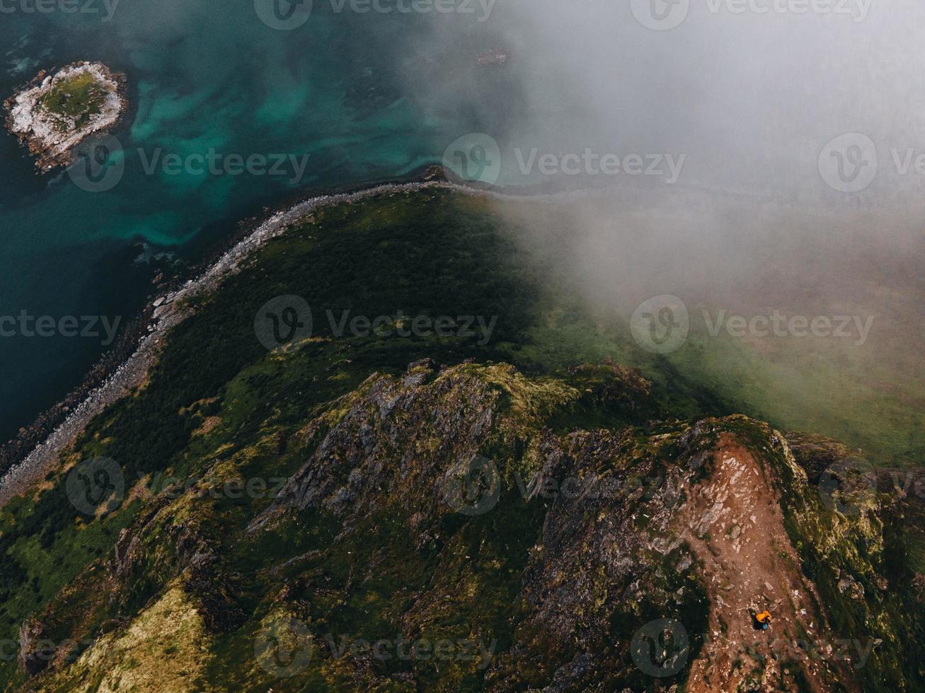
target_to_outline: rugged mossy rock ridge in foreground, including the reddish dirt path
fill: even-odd
[[[115,616],[80,659],[51,657],[49,687],[110,670],[124,678],[136,660],[147,672],[159,650],[139,636],[139,609],[173,595],[190,614],[179,643],[195,635],[247,648],[266,624],[295,623],[314,659],[292,681],[315,687],[434,683],[425,664],[394,671],[325,645],[372,622],[409,641],[448,634],[490,650],[440,663],[447,688],[860,688],[852,667],[882,669],[877,648],[894,638],[883,597],[866,587],[887,587],[879,506],[854,516],[826,508],[783,435],[743,416],[549,426],[589,398],[617,407],[619,420],[647,410],[647,392],[612,363],[550,378],[424,359],[371,375],[297,428],[268,425],[250,444],[218,444],[217,422],[197,438],[217,444],[203,479],[133,494],[145,507],[95,589],[63,590],[23,626],[24,666],[35,675],[49,659],[43,624],[76,640]],[[245,469],[281,465],[290,471],[272,499],[212,492]],[[808,550],[844,567],[810,575]],[[104,591],[95,606],[86,596]],[[857,608],[863,633],[831,618]],[[759,609],[774,614],[768,632],[753,628]],[[108,643],[123,644],[104,670]],[[184,656],[216,671],[214,652]],[[233,680],[274,682],[260,667]]]

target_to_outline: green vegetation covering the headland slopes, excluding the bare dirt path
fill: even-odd
[[[93,420],[60,472],[0,512],[0,639],[18,638],[28,619],[43,638],[74,643],[32,679],[0,660],[0,682],[49,690],[542,687],[594,651],[587,676],[645,688],[654,679],[638,671],[630,640],[657,618],[684,619],[697,656],[707,624],[697,565],[685,561],[684,545],[656,551],[663,537],[646,519],[672,484],[640,480],[702,478],[704,468],[678,464],[711,444],[709,435],[683,442],[690,420],[729,414],[730,405],[640,353],[617,324],[589,316],[550,280],[555,252],[524,249],[517,233],[486,201],[447,191],[341,204],[294,225],[197,298],[149,382]],[[312,338],[268,351],[255,316],[284,295],[309,301]],[[456,328],[467,316],[497,322],[491,334],[336,334],[343,315],[398,321],[399,311],[449,316]],[[433,361],[408,371],[422,359]],[[646,377],[617,365],[626,362]],[[723,420],[724,431],[771,454],[766,427]],[[476,455],[497,464],[502,482],[497,506],[468,516],[435,489]],[[100,517],[81,515],[63,482],[92,457],[116,460],[126,480],[126,501]],[[622,491],[525,499],[518,480],[543,470],[619,480]],[[798,480],[783,478],[786,496]],[[269,491],[228,492],[254,479]],[[275,502],[290,479],[298,483]],[[915,619],[890,620],[891,595],[857,614],[833,590],[835,565],[867,580],[865,588],[874,573],[906,575],[904,556],[885,558],[896,545],[893,526],[845,526],[803,492],[786,497],[805,569],[831,564],[820,590],[827,609],[848,614],[836,625],[857,634],[872,621],[891,638],[865,676],[889,665],[912,680],[901,658]],[[612,546],[614,538],[623,544]],[[863,548],[877,541],[877,551]],[[813,553],[821,546],[830,553]],[[267,627],[286,619],[298,619],[314,642],[311,661],[291,677],[273,675],[255,654]],[[494,643],[495,657],[490,667],[376,660],[337,654],[326,641],[397,634]],[[686,671],[661,683],[683,683]]]

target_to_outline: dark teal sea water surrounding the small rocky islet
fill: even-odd
[[[15,7],[0,15],[0,94],[40,68],[93,60],[128,74],[131,101],[112,132],[121,152],[110,164],[124,171],[103,191],[60,170],[36,176],[25,150],[0,136],[0,316],[18,321],[23,311],[56,323],[128,321],[153,290],[139,241],[195,260],[242,216],[296,191],[439,161],[450,141],[487,119],[497,125],[512,103],[508,93],[494,111],[441,111],[436,95],[408,79],[444,68],[419,48],[433,30],[425,16],[337,14],[316,3],[302,27],[283,31],[267,27],[252,0],[122,0],[111,18],[102,2],[77,14]],[[450,59],[472,71],[479,42],[490,46],[491,37],[469,27]],[[212,172],[187,159],[210,152]],[[263,156],[265,168],[232,175],[233,154]],[[193,167],[178,173],[178,157]],[[13,331],[0,337],[0,441],[79,383],[105,350],[102,334],[27,336],[21,322]]]

